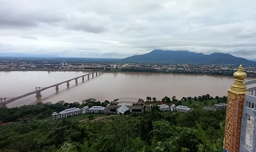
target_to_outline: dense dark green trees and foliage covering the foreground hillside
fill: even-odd
[[[78,106],[92,103],[92,99],[86,101]],[[186,104],[192,106],[194,102],[204,104],[199,101],[191,104],[186,101]],[[76,119],[81,115],[58,121],[48,117],[52,111],[63,110],[66,106],[67,103],[59,102],[0,109],[2,120],[6,116],[4,114],[10,113],[30,117],[0,126],[0,151],[211,152],[222,148],[225,109],[205,111],[196,108],[184,114],[160,112],[154,106],[151,112],[143,115],[108,116],[99,121],[95,115],[84,114],[86,118],[94,119],[83,122]],[[47,118],[40,118],[41,114],[46,114]]]

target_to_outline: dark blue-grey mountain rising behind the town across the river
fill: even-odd
[[[202,53],[189,52],[187,50],[152,50],[143,55],[131,56],[123,59],[129,63],[174,63],[174,64],[234,64],[253,65],[256,63],[242,57],[230,54],[213,53],[205,55]]]

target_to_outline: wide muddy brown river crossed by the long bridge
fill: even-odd
[[[47,72],[47,71],[15,71],[0,72],[0,97],[12,98],[31,91],[35,87],[47,87],[63,82],[88,72]],[[8,107],[35,104],[38,102],[56,103],[81,102],[87,98],[96,98],[100,102],[113,101],[116,98],[136,97],[146,100],[147,96],[161,100],[164,96],[178,99],[183,96],[200,96],[209,93],[211,96],[226,96],[227,90],[234,82],[233,77],[210,75],[182,75],[163,73],[124,73],[107,72],[97,77],[90,76],[73,80],[70,87],[61,84],[56,93],[55,87],[42,91],[41,99],[35,95],[9,103]]]

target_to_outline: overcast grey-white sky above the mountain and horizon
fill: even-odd
[[[255,0],[0,0],[0,54],[124,58],[154,49],[256,59]]]

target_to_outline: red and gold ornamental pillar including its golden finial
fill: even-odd
[[[223,152],[239,152],[244,95],[248,93],[244,84],[247,74],[242,65],[239,66],[237,72],[234,72],[233,77],[236,82],[232,84],[231,89],[228,89]]]

